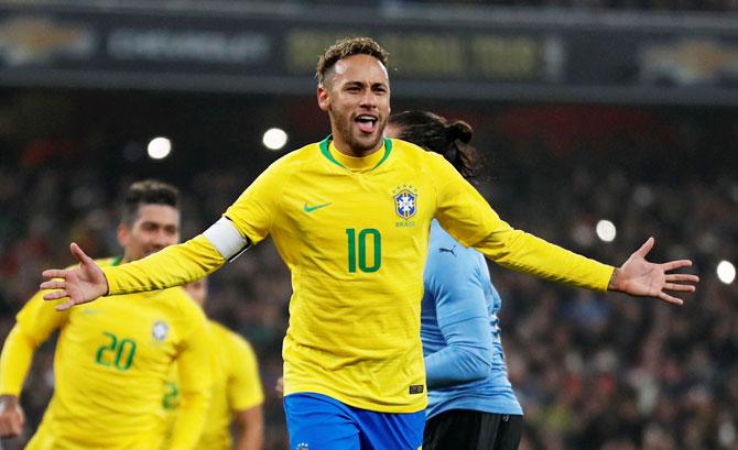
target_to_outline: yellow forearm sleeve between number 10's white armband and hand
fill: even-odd
[[[130,294],[182,286],[199,279],[226,263],[203,234],[170,245],[142,260],[102,267],[108,295]]]

